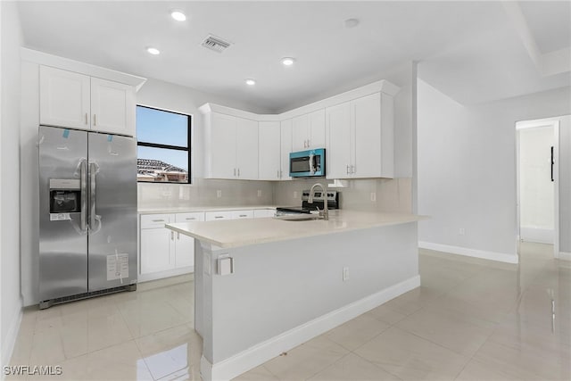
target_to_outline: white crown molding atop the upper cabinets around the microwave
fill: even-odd
[[[350,102],[353,99],[361,98],[366,95],[371,95],[375,93],[384,93],[386,95],[394,96],[401,91],[401,87],[394,85],[388,80],[382,79],[376,82],[369,83],[368,85],[353,88],[352,90],[345,91],[344,93],[330,96],[328,98],[322,99],[318,102],[312,104],[306,104],[302,107],[298,107],[294,110],[287,112],[282,112],[279,114],[256,114],[253,112],[244,112],[243,110],[234,109],[227,106],[222,106],[219,104],[203,104],[198,108],[203,114],[209,112],[220,112],[226,115],[232,115],[239,118],[245,118],[257,121],[283,121],[304,114],[309,114],[310,112],[317,112],[319,110],[326,109],[327,107],[335,106],[336,104],[343,104],[345,102]]]

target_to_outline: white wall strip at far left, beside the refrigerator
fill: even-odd
[[[0,269],[1,363],[12,355],[21,320],[20,292],[20,17],[13,2],[0,2]]]

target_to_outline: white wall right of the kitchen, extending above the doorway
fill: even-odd
[[[570,111],[570,87],[465,107],[419,79],[421,245],[517,261],[516,122]]]

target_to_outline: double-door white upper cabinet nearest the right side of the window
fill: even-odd
[[[206,178],[258,178],[258,122],[208,112]]]

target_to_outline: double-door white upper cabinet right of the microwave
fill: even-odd
[[[393,97],[366,95],[328,107],[327,178],[393,177]]]

